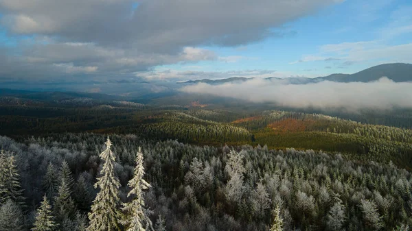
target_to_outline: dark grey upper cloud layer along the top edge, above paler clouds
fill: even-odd
[[[3,25],[16,34],[159,51],[204,43],[246,45],[276,34],[272,27],[338,2],[141,0],[133,8],[134,0],[2,0],[0,12]]]

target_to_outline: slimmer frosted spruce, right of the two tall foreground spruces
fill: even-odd
[[[128,182],[131,190],[127,195],[135,198],[131,202],[123,204],[122,209],[126,212],[126,219],[122,223],[126,226],[127,231],[152,230],[152,223],[144,208],[143,191],[149,189],[150,184],[143,179],[143,154],[140,147],[136,156],[136,164],[134,177]]]

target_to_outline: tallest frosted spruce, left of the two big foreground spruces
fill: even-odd
[[[117,231],[120,230],[119,220],[122,214],[119,210],[119,179],[115,176],[115,155],[111,151],[111,141],[107,138],[106,150],[100,154],[103,160],[100,178],[95,184],[100,192],[93,201],[89,212],[90,225],[87,231]]]

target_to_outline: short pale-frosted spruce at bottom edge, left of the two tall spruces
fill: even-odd
[[[54,231],[56,223],[52,215],[52,206],[47,201],[47,197],[43,197],[40,208],[37,210],[36,221],[34,221],[33,231]]]

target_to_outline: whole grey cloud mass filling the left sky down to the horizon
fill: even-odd
[[[133,8],[133,0],[0,0],[1,25],[12,36],[28,36],[0,56],[0,77],[130,75],[216,60],[196,47],[290,36],[296,32],[282,29],[284,23],[336,2],[141,0]]]

